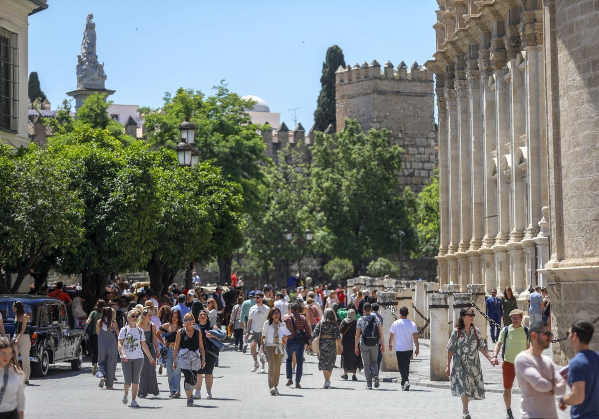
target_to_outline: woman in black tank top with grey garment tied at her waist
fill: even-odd
[[[193,323],[195,323],[195,318],[189,312],[183,317],[183,329],[177,332],[174,350],[175,360],[173,361],[173,368],[177,368],[177,365],[179,365],[183,372],[187,406],[193,406],[192,393],[198,382],[199,370],[206,365],[202,334],[193,327]]]

